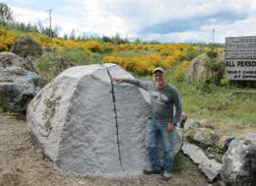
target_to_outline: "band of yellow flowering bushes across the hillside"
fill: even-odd
[[[91,40],[72,40],[61,37],[49,37],[36,32],[19,34],[0,28],[0,51],[10,50],[11,45],[20,36],[29,35],[41,46],[56,47],[58,54],[65,54],[65,48],[80,48],[79,51],[85,54],[104,53],[102,58],[105,63],[115,63],[124,69],[139,75],[151,74],[154,68],[173,68],[174,78],[182,78],[187,73],[188,66],[193,56],[200,53],[202,48],[181,43],[164,44],[142,44],[123,43],[113,44],[111,42],[100,42]],[[208,47],[204,48],[206,51]],[[74,50],[76,51],[76,50]],[[107,55],[107,52],[111,52]],[[99,54],[98,54],[99,55]],[[101,54],[100,54],[101,55]],[[96,61],[97,62],[97,61]],[[178,63],[177,63],[178,62]]]

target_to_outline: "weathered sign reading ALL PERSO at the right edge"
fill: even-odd
[[[227,79],[256,81],[256,36],[225,38]]]

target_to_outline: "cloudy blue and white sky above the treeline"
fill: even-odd
[[[1,0],[0,0],[1,1]],[[224,42],[256,35],[255,0],[2,0],[24,23],[52,25],[60,33],[114,35],[161,42]]]

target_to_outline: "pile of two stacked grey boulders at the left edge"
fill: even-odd
[[[32,97],[44,86],[32,61],[12,52],[0,52],[0,108],[26,113]]]

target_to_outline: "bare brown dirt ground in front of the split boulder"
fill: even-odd
[[[25,120],[0,114],[0,186],[206,186],[205,177],[188,157],[179,155],[173,179],[140,175],[133,178],[107,179],[63,175],[51,161],[32,146]]]

